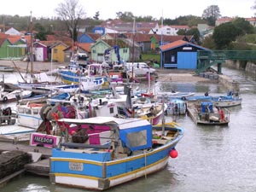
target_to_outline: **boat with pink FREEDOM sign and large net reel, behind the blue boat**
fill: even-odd
[[[80,102],[65,100],[57,102],[55,105],[44,104],[39,113],[43,122],[38,126],[37,131],[31,133],[29,143],[31,146],[45,148],[55,147],[61,141],[62,136],[67,134],[67,137],[71,137],[72,131],[81,128],[80,126],[77,129],[73,126],[68,127],[66,132],[61,128],[65,125],[57,122],[58,119],[85,119],[89,117],[88,109],[81,106]]]

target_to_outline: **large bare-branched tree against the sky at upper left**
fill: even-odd
[[[79,20],[85,17],[83,7],[79,5],[79,0],[65,0],[64,3],[60,3],[58,6],[55,12],[61,20],[65,21],[70,38],[73,38],[73,41],[77,41]]]

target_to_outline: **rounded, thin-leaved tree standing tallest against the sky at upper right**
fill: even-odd
[[[204,10],[201,17],[207,20],[209,26],[215,26],[215,21],[218,20],[220,16],[218,5],[211,5]]]

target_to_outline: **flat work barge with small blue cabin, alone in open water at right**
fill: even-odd
[[[228,125],[230,111],[226,108],[216,108],[213,102],[189,103],[188,112],[196,124],[202,125]]]

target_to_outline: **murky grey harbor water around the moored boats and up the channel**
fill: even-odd
[[[227,126],[195,125],[189,116],[175,120],[185,130],[177,143],[178,157],[153,175],[122,184],[112,192],[254,192],[256,191],[256,77],[224,68],[225,75],[240,83],[241,106],[229,108]],[[203,95],[224,95],[228,90],[216,83],[160,82],[154,89],[195,91]],[[172,117],[166,117],[171,120]],[[86,192],[49,183],[48,177],[25,175],[4,186],[4,192]]]

